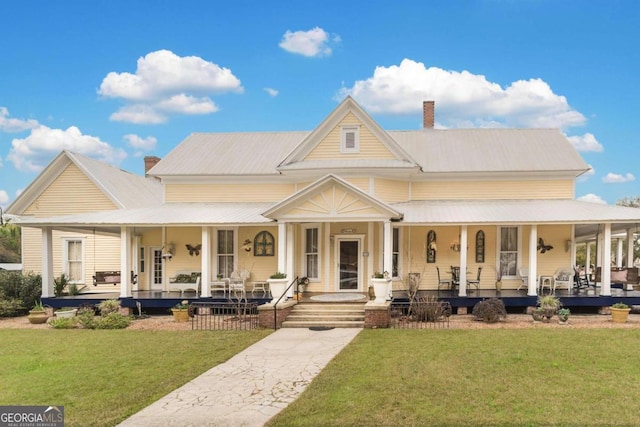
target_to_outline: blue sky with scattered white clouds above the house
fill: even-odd
[[[640,195],[640,2],[6,1],[0,207],[62,149],[143,174],[192,132],[311,130],[350,94],[386,129],[555,127]]]

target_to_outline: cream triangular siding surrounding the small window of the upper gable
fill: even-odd
[[[360,125],[359,153],[346,154],[340,152],[340,127],[343,125]],[[349,113],[306,157],[308,160],[336,158],[395,159],[395,156],[368,128],[362,126],[362,123],[353,114]]]

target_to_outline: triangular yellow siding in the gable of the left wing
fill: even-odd
[[[69,165],[26,210],[37,217],[116,209],[75,165]]]

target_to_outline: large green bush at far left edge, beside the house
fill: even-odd
[[[42,277],[39,274],[0,271],[0,299],[5,302],[4,312],[13,313],[14,310],[18,310],[16,314],[10,314],[10,316],[26,314],[29,307],[33,307],[40,299],[41,294]],[[19,304],[13,300],[18,300]],[[10,307],[13,308],[9,309]],[[0,310],[0,316],[9,316],[2,313],[3,310]]]

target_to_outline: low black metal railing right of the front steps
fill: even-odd
[[[391,322],[395,329],[448,328],[453,310],[448,301],[416,300],[392,302]]]

